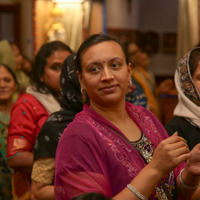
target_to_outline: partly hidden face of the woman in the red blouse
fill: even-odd
[[[60,72],[62,63],[70,54],[69,51],[58,50],[47,58],[44,75],[41,77],[41,80],[48,88],[56,93],[60,92]]]

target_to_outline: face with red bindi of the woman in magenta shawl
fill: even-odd
[[[110,106],[125,101],[131,66],[126,64],[121,46],[114,42],[95,44],[82,53],[81,87],[90,97],[90,104]]]

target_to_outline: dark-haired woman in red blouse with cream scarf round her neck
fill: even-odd
[[[14,104],[9,125],[7,161],[14,169],[13,196],[30,199],[33,146],[48,118],[60,109],[60,71],[64,59],[72,53],[62,42],[44,44],[35,58],[31,86]]]

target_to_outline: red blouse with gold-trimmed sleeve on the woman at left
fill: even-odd
[[[49,114],[31,94],[24,94],[14,104],[7,138],[7,158],[22,151],[32,151],[35,139]]]

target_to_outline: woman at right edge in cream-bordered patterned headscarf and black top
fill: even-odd
[[[189,149],[200,143],[200,47],[188,52],[175,73],[179,102],[174,118],[166,125],[169,135],[175,131],[187,140]]]

